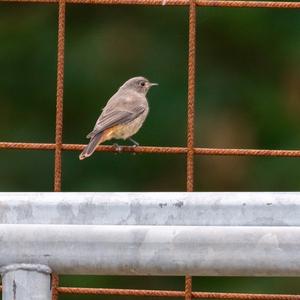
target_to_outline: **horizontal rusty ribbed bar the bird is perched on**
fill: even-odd
[[[63,144],[64,151],[82,151],[83,144]],[[0,142],[0,149],[20,150],[55,150],[55,144],[49,143],[9,143]],[[96,151],[118,152],[115,146],[101,145]],[[122,152],[134,153],[160,153],[160,154],[184,154],[186,147],[152,147],[152,146],[124,146]],[[300,150],[270,150],[270,149],[226,149],[226,148],[194,148],[195,155],[218,155],[218,156],[277,156],[277,157],[300,157]]]

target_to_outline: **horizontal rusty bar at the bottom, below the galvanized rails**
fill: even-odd
[[[146,296],[146,297],[184,297],[184,291],[136,290],[107,288],[58,287],[60,294]],[[192,292],[192,298],[198,299],[241,299],[241,300],[300,300],[300,295],[286,294],[248,294],[248,293],[214,293]]]

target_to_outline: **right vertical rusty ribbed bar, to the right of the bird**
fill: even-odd
[[[194,190],[194,124],[195,124],[195,65],[196,65],[196,2],[189,5],[189,58],[187,108],[187,191]],[[192,277],[185,277],[185,300],[192,299]]]

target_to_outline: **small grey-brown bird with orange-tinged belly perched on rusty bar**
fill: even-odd
[[[91,156],[99,144],[111,139],[129,139],[134,146],[138,146],[138,142],[131,137],[139,131],[148,115],[146,95],[155,85],[158,84],[142,76],[127,80],[103,108],[93,131],[86,136],[90,141],[79,159]]]

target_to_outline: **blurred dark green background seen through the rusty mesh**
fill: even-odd
[[[196,145],[300,148],[300,11],[197,8]],[[54,142],[57,5],[0,3],[0,140]],[[64,143],[85,135],[128,78],[149,92],[141,145],[186,145],[187,7],[67,5]],[[184,191],[184,155],[63,153],[63,191]],[[0,151],[0,191],[52,191],[54,153]],[[296,158],[195,160],[196,191],[298,191]],[[62,277],[62,284],[183,289],[183,278]],[[195,278],[195,290],[300,293],[297,279]],[[60,299],[96,299],[61,296]],[[101,296],[101,298],[116,298]],[[124,299],[124,298],[123,298]],[[129,299],[129,298],[127,298]]]

